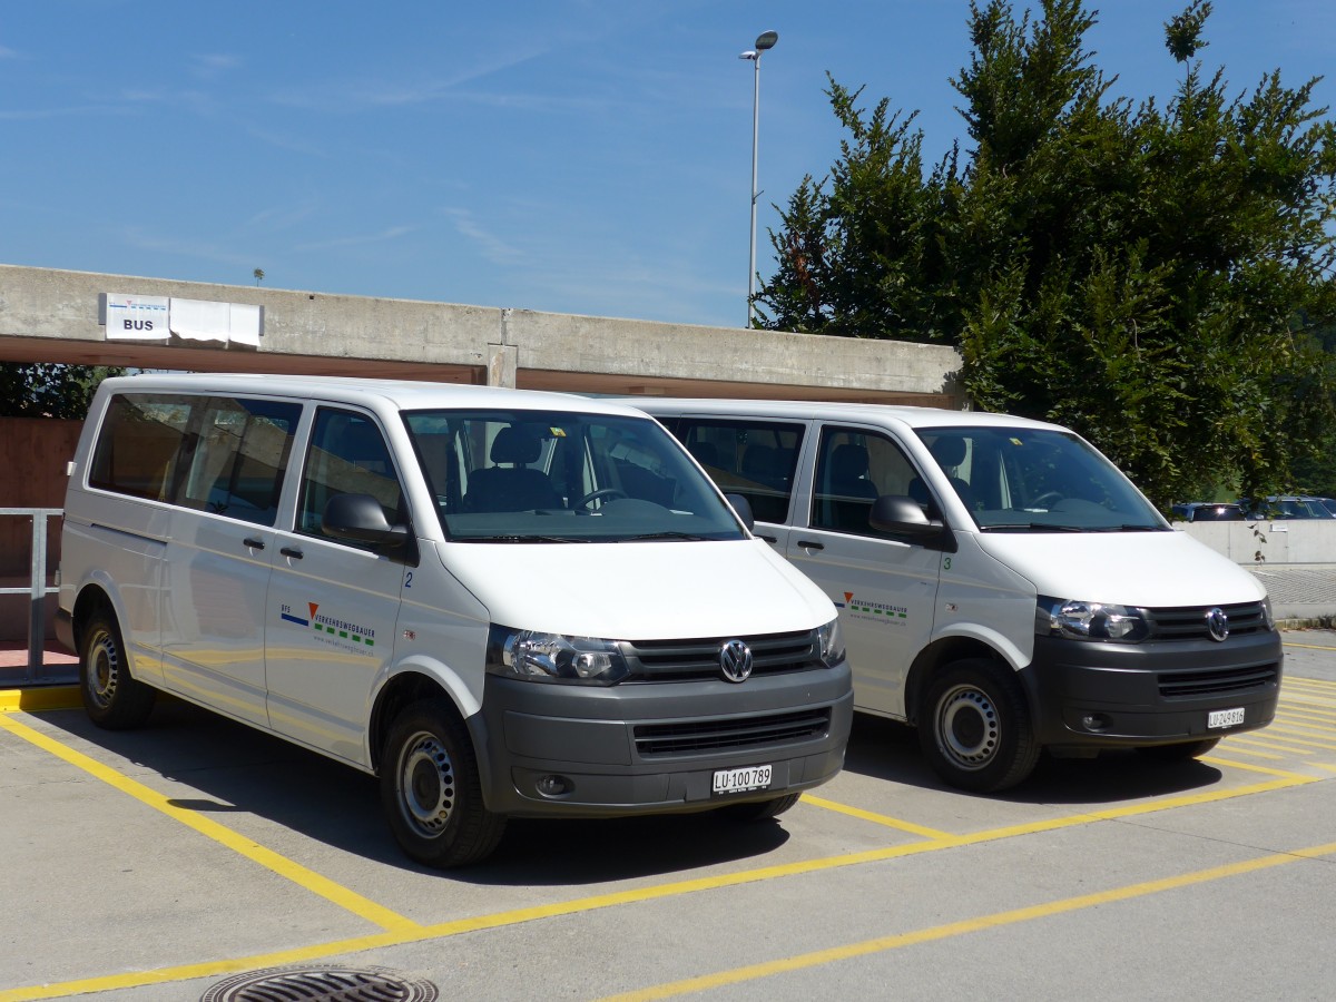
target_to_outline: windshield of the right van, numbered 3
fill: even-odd
[[[983,532],[1172,532],[1112,462],[1071,433],[921,428],[918,436]]]

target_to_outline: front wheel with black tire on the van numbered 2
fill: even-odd
[[[379,780],[390,830],[418,863],[468,866],[501,842],[505,816],[484,806],[473,741],[442,697],[413,703],[395,717]]]

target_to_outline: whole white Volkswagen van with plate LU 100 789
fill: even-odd
[[[160,689],[375,772],[432,866],[508,816],[768,818],[843,764],[835,608],[617,403],[107,379],[60,580],[94,721]]]

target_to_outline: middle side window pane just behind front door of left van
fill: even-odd
[[[196,399],[176,504],[273,525],[299,403]]]

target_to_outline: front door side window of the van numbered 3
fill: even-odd
[[[812,528],[882,536],[867,524],[872,501],[880,494],[908,496],[929,504],[923,481],[891,438],[852,428],[823,428],[812,490]]]

